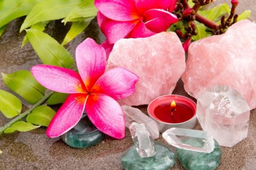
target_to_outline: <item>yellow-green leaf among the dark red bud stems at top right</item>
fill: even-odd
[[[227,3],[220,4],[212,9],[208,9],[205,11],[198,11],[199,14],[202,16],[210,19],[211,21],[215,22],[216,19],[223,16],[224,14],[229,14],[230,9]]]

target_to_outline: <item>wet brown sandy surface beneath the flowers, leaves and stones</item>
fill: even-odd
[[[256,19],[255,1],[241,1],[238,11],[244,9],[251,9],[253,11],[251,18]],[[24,48],[20,47],[24,32],[19,34],[18,30],[23,19],[19,18],[8,24],[0,38],[1,73],[9,74],[17,70],[29,70],[31,66],[41,63],[30,44]],[[51,22],[46,32],[61,42],[69,27],[70,25],[63,27],[58,20]],[[68,44],[67,49],[74,54],[76,46],[87,37],[95,39],[98,43],[104,40],[104,35],[97,27],[96,20],[93,20],[84,33]],[[2,79],[0,80],[0,89],[7,90]],[[173,93],[190,97],[186,94],[181,81]],[[26,110],[29,105],[26,103],[24,105],[23,110]],[[146,107],[139,106],[139,109],[147,114]],[[8,120],[0,114],[0,126],[7,122]],[[199,123],[196,124],[195,129],[201,130]],[[71,148],[62,141],[47,138],[45,130],[46,128],[38,128],[31,132],[15,132],[0,136],[0,150],[3,151],[0,155],[0,169],[122,169],[121,156],[133,145],[130,132],[127,129],[124,140],[106,137],[98,145],[85,149]],[[218,169],[256,169],[255,139],[256,110],[252,110],[248,137],[232,148],[221,147],[223,156]],[[164,142],[163,137],[157,141]],[[175,151],[174,147],[170,146],[170,148]],[[184,168],[176,160],[175,166],[171,169]]]

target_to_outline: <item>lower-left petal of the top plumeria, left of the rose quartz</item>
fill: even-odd
[[[101,23],[101,31],[106,35],[107,41],[114,44],[117,40],[125,38],[139,21],[136,19],[122,22],[105,18]]]

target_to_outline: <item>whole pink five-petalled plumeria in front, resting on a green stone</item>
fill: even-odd
[[[76,64],[80,74],[52,65],[33,66],[31,72],[47,89],[70,94],[47,128],[48,137],[69,131],[80,121],[83,111],[100,131],[124,138],[124,112],[116,100],[135,91],[138,76],[125,68],[105,72],[106,52],[87,38],[76,48]]]

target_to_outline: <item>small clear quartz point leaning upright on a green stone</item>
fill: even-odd
[[[155,155],[154,141],[143,123],[139,124],[132,122],[130,125],[130,132],[132,140],[134,141],[134,146],[142,158]]]

